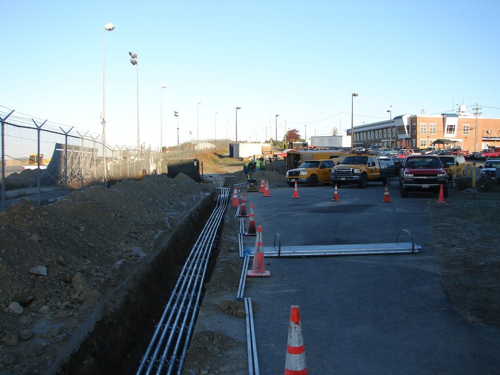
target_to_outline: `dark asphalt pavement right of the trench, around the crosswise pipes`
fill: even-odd
[[[331,186],[299,185],[299,198],[285,187],[246,194],[264,246],[275,233],[282,245],[396,242],[399,229],[422,246],[416,254],[266,258],[271,276],[247,278],[244,292],[256,306],[260,373],[283,373],[291,305],[300,307],[310,375],[500,373],[500,329],[465,321],[441,285],[428,209],[443,203],[432,193],[401,198],[395,179],[390,203],[383,190],[342,186],[338,202]],[[255,237],[244,241],[253,248]]]

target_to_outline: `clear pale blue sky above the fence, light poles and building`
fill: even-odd
[[[500,1],[2,0],[0,105],[159,146],[226,135],[307,137],[422,109],[479,103],[500,117]],[[201,103],[198,105],[197,102]],[[5,110],[1,108],[2,110]],[[469,107],[471,108],[471,107]],[[217,112],[217,114],[215,114]],[[339,113],[341,114],[339,115]],[[339,121],[341,120],[341,123]],[[342,131],[343,132],[343,131]],[[344,132],[343,132],[344,133]]]

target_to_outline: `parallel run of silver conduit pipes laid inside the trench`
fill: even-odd
[[[217,230],[229,200],[229,188],[220,188],[217,204],[193,245],[165,305],[136,375],[182,372],[185,354],[200,305],[203,280]]]

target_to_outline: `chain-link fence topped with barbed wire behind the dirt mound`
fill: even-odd
[[[184,141],[150,148],[103,145],[102,135],[42,120],[0,106],[1,199],[14,188],[59,186],[83,189],[124,178],[166,172],[169,158],[196,157],[200,151],[227,147],[228,140]]]

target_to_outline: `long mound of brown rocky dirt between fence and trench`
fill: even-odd
[[[43,373],[97,302],[210,183],[151,175],[0,212],[0,373]]]

